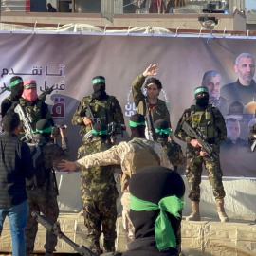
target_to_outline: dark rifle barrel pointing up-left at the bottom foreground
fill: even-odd
[[[84,256],[95,256],[95,254],[90,251],[87,247],[79,246],[74,243],[71,239],[69,239],[64,233],[61,231],[60,223],[53,224],[50,220],[48,220],[44,215],[39,214],[37,211],[32,211],[32,217],[34,217],[41,225],[43,225],[49,232],[57,235],[62,238],[65,243],[69,246],[73,247],[75,251]]]

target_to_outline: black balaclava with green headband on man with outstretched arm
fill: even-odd
[[[145,137],[145,117],[141,114],[135,114],[130,118],[131,137]]]

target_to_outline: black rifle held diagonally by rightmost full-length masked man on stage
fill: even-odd
[[[182,123],[182,129],[186,132],[187,135],[197,139],[197,141],[202,145],[202,150],[205,151],[213,161],[218,159],[218,156],[213,152],[213,148],[206,141],[205,135],[203,135],[200,131],[193,129],[186,120]]]

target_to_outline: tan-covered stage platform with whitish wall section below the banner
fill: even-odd
[[[243,177],[224,177],[226,190],[225,206],[230,218],[229,223],[220,223],[217,219],[216,206],[207,178],[202,178],[200,211],[202,221],[182,222],[182,251],[184,255],[216,255],[216,256],[252,256],[256,255],[256,180]],[[74,242],[86,246],[86,229],[83,225],[82,204],[80,196],[80,173],[57,173],[60,195],[58,197],[60,223],[62,231]],[[184,177],[187,185],[186,178]],[[67,186],[68,184],[68,186]],[[118,183],[119,188],[119,183]],[[185,194],[183,216],[191,212],[191,202],[188,199],[188,190]],[[121,212],[119,199],[118,212]],[[126,240],[119,218],[117,222],[119,236],[117,249],[124,251]],[[43,253],[46,229],[39,226],[36,238],[35,251]],[[56,253],[74,253],[72,247],[59,240]],[[11,252],[8,219],[0,238],[1,252]],[[150,255],[149,255],[150,256]]]

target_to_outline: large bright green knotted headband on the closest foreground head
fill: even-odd
[[[138,199],[133,194],[130,195],[131,209],[136,211],[146,210],[160,210],[157,218],[155,219],[155,242],[156,247],[159,250],[176,247],[176,237],[174,235],[174,229],[170,223],[170,220],[166,214],[166,211],[174,215],[174,217],[180,217],[179,211],[183,209],[185,202],[183,197],[179,199],[175,195],[162,198],[158,205]]]

